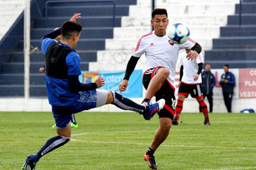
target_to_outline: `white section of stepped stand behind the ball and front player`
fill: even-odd
[[[212,39],[220,36],[220,27],[225,26],[228,15],[235,13],[235,3],[239,0],[158,0],[157,8],[166,8],[169,24],[181,22],[191,31],[191,38],[205,50],[212,48]],[[129,16],[121,18],[121,27],[114,28],[114,38],[106,40],[105,51],[97,52],[97,62],[90,62],[89,70],[124,70],[139,38],[150,32],[152,7],[148,1],[137,0],[131,5]],[[109,67],[109,64],[112,67]],[[143,69],[145,58],[142,56],[136,69]]]

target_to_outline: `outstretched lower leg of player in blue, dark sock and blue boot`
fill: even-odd
[[[160,99],[154,104],[144,106],[144,105],[140,105],[133,102],[129,98],[119,95],[117,92],[112,92],[112,94],[114,98],[114,102],[112,104],[114,104],[115,106],[123,110],[131,110],[131,111],[139,112],[139,114],[142,114],[146,120],[149,120],[158,111],[163,109],[163,105],[165,104],[165,100]]]

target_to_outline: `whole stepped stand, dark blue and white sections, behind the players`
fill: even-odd
[[[21,3],[19,0],[3,0],[3,2],[11,2],[14,6],[14,2]],[[31,10],[33,53],[30,68],[32,97],[46,96],[44,74],[39,73],[39,68],[44,65],[44,57],[40,50],[41,36],[60,27],[63,21],[68,20],[75,12],[82,13],[79,22],[82,23],[83,30],[76,48],[81,56],[82,70],[124,70],[139,37],[152,29],[150,26],[152,7],[148,0],[115,0],[114,29],[111,3],[51,4],[48,8],[48,27],[46,28],[45,1],[36,0],[43,14],[42,17],[33,2],[34,0]],[[233,68],[251,67],[255,65],[256,53],[252,49],[256,42],[254,39],[255,1],[243,0],[242,26],[238,26],[238,3],[239,0],[205,0],[203,2],[191,0],[189,4],[186,0],[158,0],[156,7],[168,10],[170,24],[182,22],[190,28],[191,38],[202,45],[206,62],[211,62],[213,68],[221,68],[226,62]],[[20,6],[24,8],[24,5]],[[4,11],[8,13],[8,10]],[[4,15],[6,14],[2,15],[0,11],[1,18]],[[7,34],[0,42],[0,96],[23,96],[22,15],[17,18],[8,32],[5,30]],[[142,69],[144,62],[145,59],[142,57],[136,69]]]

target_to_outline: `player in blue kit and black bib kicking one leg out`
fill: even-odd
[[[75,16],[78,19],[81,14]],[[61,29],[42,37],[41,48],[45,55],[47,95],[52,105],[58,135],[50,138],[36,154],[28,155],[22,169],[34,169],[36,162],[42,156],[70,141],[71,114],[105,104],[114,104],[120,109],[136,111],[145,119],[150,119],[163,108],[164,99],[144,106],[132,102],[117,92],[96,90],[105,84],[103,77],[97,78],[94,83],[80,83],[78,80],[78,75],[81,74],[80,56],[74,48],[80,38],[81,30],[80,23],[66,21]],[[54,37],[60,34],[62,39],[57,42]]]

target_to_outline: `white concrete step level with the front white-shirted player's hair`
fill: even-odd
[[[228,8],[227,8],[228,7]],[[174,15],[208,15],[215,13],[216,15],[228,15],[234,14],[234,3],[218,3],[218,4],[164,4],[157,5],[157,8],[167,9],[168,14]],[[175,13],[173,12],[175,10]],[[147,5],[131,5],[129,14],[130,16],[150,16],[152,12],[151,4]],[[147,15],[145,15],[147,14]],[[172,21],[172,17],[169,16],[169,20]]]

